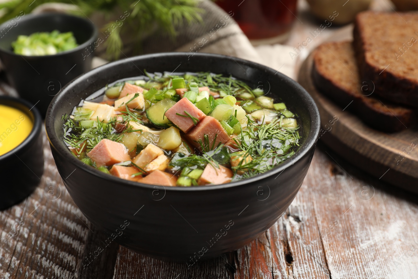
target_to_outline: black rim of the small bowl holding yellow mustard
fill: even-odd
[[[10,100],[14,103],[19,103],[20,105],[24,105],[29,112],[33,114],[33,123],[32,123],[32,130],[29,133],[29,135],[15,148],[12,150],[6,152],[3,155],[0,155],[0,162],[9,159],[13,154],[19,154],[21,151],[24,151],[24,148],[26,148],[31,142],[36,141],[38,134],[41,133],[41,113],[39,113],[39,110],[35,107],[35,105],[32,105],[30,102],[23,100],[21,98],[11,97],[11,96],[0,96],[0,105],[4,105],[2,100]],[[12,108],[16,108],[13,105],[6,105]],[[16,108],[17,110],[20,110],[19,108]],[[27,112],[22,111],[25,113],[25,115],[28,115]],[[31,117],[31,115],[28,115]]]

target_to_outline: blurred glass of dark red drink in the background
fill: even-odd
[[[255,46],[283,43],[296,19],[297,0],[217,0]]]

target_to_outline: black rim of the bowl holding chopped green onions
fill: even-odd
[[[12,56],[21,56],[23,58],[29,58],[29,59],[34,59],[34,58],[41,59],[42,57],[45,57],[45,58],[55,57],[55,56],[60,56],[60,55],[65,55],[65,54],[73,53],[73,52],[76,52],[76,51],[80,51],[80,50],[86,48],[87,46],[89,46],[90,44],[94,43],[94,40],[96,40],[97,36],[99,36],[99,31],[97,31],[97,27],[90,20],[82,18],[81,16],[69,15],[69,14],[66,14],[66,13],[28,14],[28,15],[23,15],[22,18],[19,21],[23,22],[23,21],[29,21],[29,20],[37,20],[38,18],[48,18],[48,17],[51,17],[51,16],[60,16],[60,17],[63,17],[63,18],[76,18],[78,20],[81,20],[85,24],[92,27],[92,29],[93,29],[92,36],[90,36],[83,44],[80,44],[80,45],[76,46],[74,49],[69,49],[69,50],[66,50],[66,51],[62,51],[62,52],[59,52],[57,54],[28,56],[28,55],[15,54],[13,51],[10,51],[9,49],[3,49],[2,47],[0,47],[0,51],[3,51],[3,52],[5,52],[9,55],[12,55]],[[5,26],[7,26],[9,23],[11,23],[12,20],[14,20],[14,18],[2,23],[0,25],[0,30],[3,30],[3,28],[5,28]]]

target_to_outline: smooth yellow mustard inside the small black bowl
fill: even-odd
[[[22,143],[31,133],[33,123],[17,108],[0,105],[0,156]]]

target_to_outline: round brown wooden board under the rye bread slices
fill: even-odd
[[[390,184],[418,193],[418,128],[382,133],[322,95],[311,78],[312,54],[303,62],[298,82],[311,94],[321,114],[320,138],[360,169]]]

